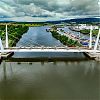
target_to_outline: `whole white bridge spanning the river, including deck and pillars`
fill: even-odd
[[[95,45],[92,46],[92,31],[93,28],[91,26],[90,29],[90,41],[88,47],[44,47],[44,46],[34,46],[34,47],[9,47],[8,44],[8,31],[7,31],[7,24],[6,24],[6,47],[3,46],[2,40],[0,38],[0,52],[98,52],[100,53],[99,46],[99,37],[100,37],[100,28],[97,35],[97,39]]]

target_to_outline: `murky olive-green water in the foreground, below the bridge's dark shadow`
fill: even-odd
[[[99,64],[3,61],[0,100],[99,100]]]

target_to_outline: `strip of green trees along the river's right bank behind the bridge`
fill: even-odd
[[[52,36],[59,40],[61,43],[67,46],[81,46],[81,44],[77,40],[70,39],[65,35],[59,34],[57,31],[51,31]]]

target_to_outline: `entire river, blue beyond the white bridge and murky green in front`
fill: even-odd
[[[30,27],[16,46],[63,46],[46,28]],[[0,65],[0,100],[100,100],[100,62],[82,53],[15,53]]]

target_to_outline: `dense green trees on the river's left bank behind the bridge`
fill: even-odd
[[[9,37],[9,46],[15,46],[16,43],[20,40],[22,35],[28,31],[28,26],[23,25],[8,25],[8,37]],[[6,26],[0,26],[0,37],[5,42],[6,38]]]

